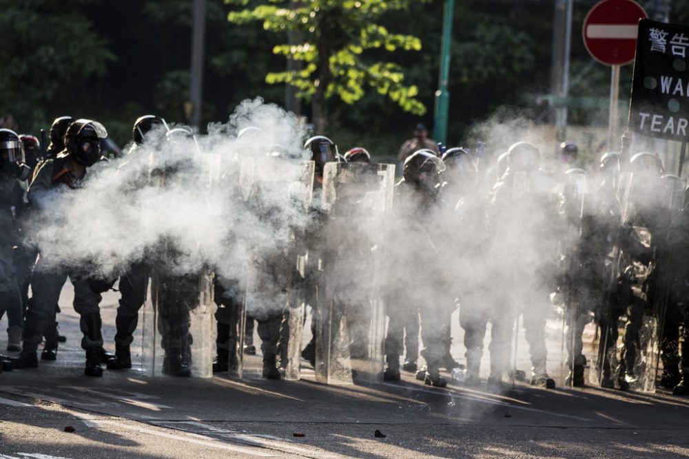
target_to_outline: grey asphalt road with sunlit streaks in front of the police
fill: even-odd
[[[70,295],[65,288],[59,321],[68,343],[58,361],[0,375],[0,459],[689,456],[689,398],[662,393],[526,383],[499,392],[436,389],[412,374],[346,386],[315,383],[308,372],[296,382],[146,378],[136,370],[88,378]],[[110,350],[116,300],[110,293],[103,301]],[[455,321],[461,361],[460,334]],[[557,330],[548,336],[555,365]]]

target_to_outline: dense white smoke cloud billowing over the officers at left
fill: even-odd
[[[254,129],[238,137],[245,127]],[[229,278],[250,276],[257,257],[281,249],[291,230],[308,224],[298,193],[280,187],[302,180],[293,164],[310,159],[305,129],[294,114],[256,99],[209,132],[167,140],[158,127],[132,154],[92,167],[78,192],[52,189],[27,225],[27,242],[39,248],[44,266],[100,277],[141,261],[174,274],[207,266]],[[262,161],[278,148],[291,159]],[[282,183],[247,201],[256,194],[252,181],[266,175]]]

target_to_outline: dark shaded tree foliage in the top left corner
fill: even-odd
[[[20,129],[45,125],[57,107],[73,106],[70,100],[82,95],[80,85],[103,74],[114,60],[78,8],[65,10],[57,1],[0,0],[0,12],[0,109],[12,112]]]

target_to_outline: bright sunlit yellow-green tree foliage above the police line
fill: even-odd
[[[398,63],[384,60],[396,50],[419,51],[421,41],[409,34],[389,32],[380,19],[405,10],[413,0],[267,0],[230,12],[229,21],[261,21],[269,32],[290,33],[296,43],[276,45],[274,54],[303,63],[299,70],[270,72],[269,84],[286,83],[311,100],[313,122],[322,130],[327,122],[325,100],[337,96],[351,105],[372,88],[388,96],[404,111],[424,114],[418,87],[404,83]],[[227,3],[248,6],[247,0]]]

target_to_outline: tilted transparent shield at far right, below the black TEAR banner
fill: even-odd
[[[623,226],[613,261],[618,268],[592,349],[597,365],[591,380],[655,392],[672,277],[665,270],[662,244],[681,205],[683,181],[626,174],[621,184]]]

